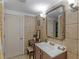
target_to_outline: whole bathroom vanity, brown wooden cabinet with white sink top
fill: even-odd
[[[67,51],[65,47],[58,44],[36,43],[35,59],[67,59]]]

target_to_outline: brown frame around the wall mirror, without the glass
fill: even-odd
[[[64,26],[63,26],[63,35],[62,35],[62,38],[58,38],[58,37],[51,37],[51,36],[49,36],[48,35],[48,29],[47,29],[47,17],[46,17],[46,36],[47,36],[47,38],[53,38],[53,39],[59,39],[59,40],[64,40],[65,39],[65,19],[66,19],[66,17],[65,17],[65,7],[63,6],[63,5],[60,5],[60,6],[57,6],[57,7],[55,7],[54,9],[50,9],[50,10],[48,10],[47,11],[47,13],[46,13],[46,15],[48,14],[48,13],[50,13],[50,12],[52,12],[52,11],[54,11],[54,10],[56,10],[56,9],[58,9],[58,8],[60,8],[60,7],[62,7],[63,8],[63,12],[64,12],[64,20],[63,20],[63,24],[64,24]]]

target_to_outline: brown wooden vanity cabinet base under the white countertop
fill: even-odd
[[[44,47],[41,47],[41,48],[44,48]],[[67,59],[67,52],[59,54],[57,56],[53,56],[53,55],[50,56],[49,53],[53,50],[51,50],[51,51],[48,50],[48,52],[46,52],[45,50],[43,50],[41,48],[38,46],[35,46],[35,49],[34,49],[35,58],[34,59]],[[57,51],[55,53],[57,53]]]

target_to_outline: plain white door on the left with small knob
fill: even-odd
[[[5,15],[5,58],[14,57],[24,53],[23,24],[23,16]]]

